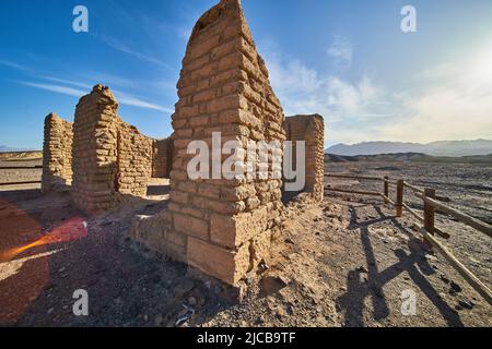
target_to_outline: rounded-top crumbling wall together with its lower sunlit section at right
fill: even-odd
[[[87,213],[112,208],[117,194],[145,195],[152,177],[154,140],[122,122],[117,110],[113,93],[102,85],[75,108],[72,196]]]

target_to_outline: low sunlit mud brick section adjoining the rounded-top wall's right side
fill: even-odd
[[[153,140],[136,127],[118,120],[118,159],[115,190],[121,194],[144,196],[152,177]]]

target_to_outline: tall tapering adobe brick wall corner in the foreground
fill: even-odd
[[[285,137],[282,108],[238,0],[222,0],[200,17],[177,87],[166,239],[178,260],[236,284],[269,254],[281,180],[191,180],[186,169],[189,142],[211,144],[212,132],[243,145]]]

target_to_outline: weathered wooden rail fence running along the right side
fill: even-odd
[[[388,177],[367,177],[367,176],[351,176],[351,174],[342,174],[342,173],[325,173],[325,177],[328,178],[344,178],[344,179],[354,179],[354,180],[368,180],[368,181],[380,181],[383,183],[383,192],[368,192],[368,191],[352,191],[344,189],[337,189],[327,186],[325,188],[327,191],[339,192],[339,193],[349,193],[349,194],[359,194],[359,195],[373,195],[383,197],[386,204],[391,204],[396,208],[396,216],[401,217],[403,214],[403,209],[411,214],[415,219],[418,219],[422,227],[420,227],[420,232],[424,237],[425,241],[427,241],[435,250],[437,250],[446,261],[467,280],[467,282],[485,299],[489,304],[492,305],[492,291],[490,288],[480,281],[480,279],[475,276],[462,263],[460,263],[453,253],[447,250],[436,238],[435,234],[448,239],[449,234],[442,231],[437,227],[435,227],[435,212],[440,210],[447,215],[453,216],[458,221],[472,227],[480,232],[485,233],[489,237],[492,237],[492,226],[483,222],[475,217],[471,217],[459,209],[449,207],[443,202],[449,202],[448,197],[438,196],[435,193],[435,190],[432,188],[418,188],[412,185],[405,180],[390,181]],[[396,201],[391,201],[389,198],[389,186],[396,188]],[[405,203],[405,189],[411,190],[413,194],[423,201],[423,215],[421,216],[417,210],[411,208],[408,204]]]

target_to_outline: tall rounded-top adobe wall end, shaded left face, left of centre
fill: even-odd
[[[117,173],[118,104],[109,88],[96,85],[75,108],[73,123],[74,204],[84,212],[110,208]]]

